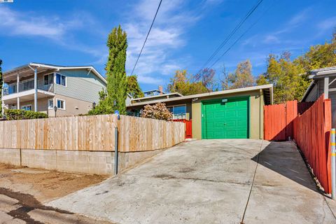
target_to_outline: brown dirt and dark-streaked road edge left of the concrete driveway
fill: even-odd
[[[107,178],[0,163],[0,223],[109,223],[43,205]]]

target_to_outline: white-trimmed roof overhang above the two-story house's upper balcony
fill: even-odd
[[[38,73],[46,71],[53,72],[59,70],[86,69],[89,72],[92,71],[94,75],[96,75],[100,80],[107,84],[106,79],[96,69],[94,69],[94,66],[57,66],[52,64],[41,64],[35,62],[31,62],[29,64],[25,64],[15,69],[3,72],[3,81],[8,82],[10,80],[16,80],[18,73],[20,73],[21,77],[31,76],[31,72],[34,69],[37,69]]]

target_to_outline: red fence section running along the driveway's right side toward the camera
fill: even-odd
[[[331,102],[322,95],[294,119],[294,139],[320,181],[325,193],[331,191],[330,130]]]

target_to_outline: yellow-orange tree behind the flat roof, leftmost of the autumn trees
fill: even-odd
[[[209,92],[201,81],[195,82],[195,77],[187,74],[186,70],[176,71],[174,78],[170,79],[167,89],[169,92],[179,92],[183,95]]]

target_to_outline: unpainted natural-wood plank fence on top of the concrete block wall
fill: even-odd
[[[183,123],[102,115],[0,121],[0,148],[114,151],[115,127],[120,152],[153,151],[184,141]]]

